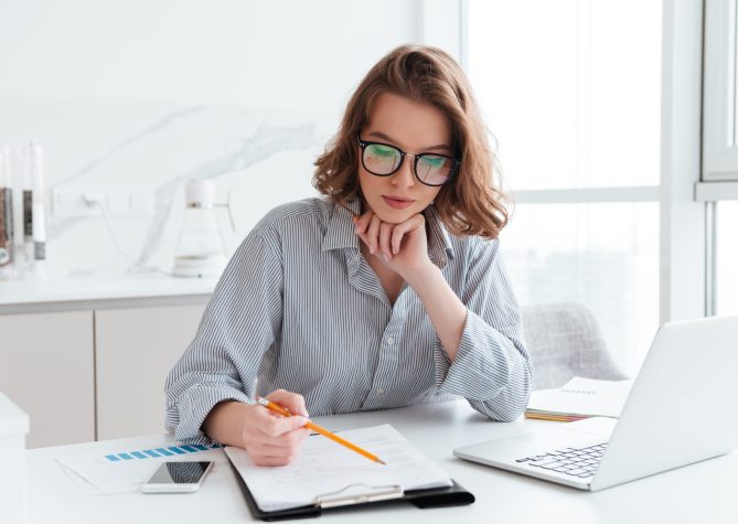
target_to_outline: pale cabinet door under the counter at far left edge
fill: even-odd
[[[30,417],[28,447],[95,439],[93,312],[0,316],[0,391]]]

